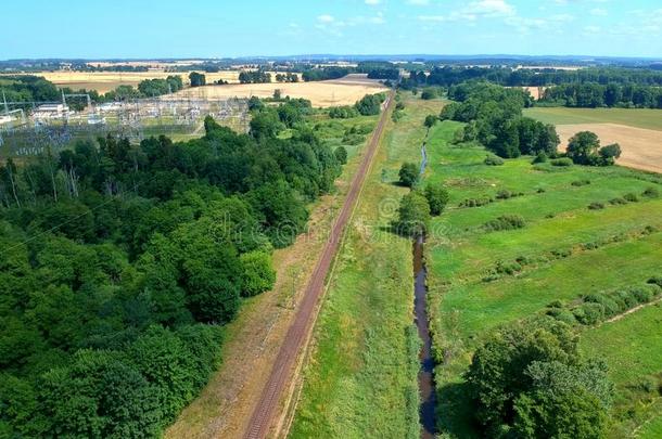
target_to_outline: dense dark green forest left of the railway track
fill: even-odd
[[[207,118],[0,166],[0,436],[153,437],[195,397],[340,173],[309,111],[254,101],[250,134]]]

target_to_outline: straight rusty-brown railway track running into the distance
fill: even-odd
[[[347,222],[352,217],[354,207],[358,201],[366,176],[379,147],[379,142],[384,131],[384,126],[393,106],[395,92],[391,91],[384,102],[383,112],[372,133],[366,155],[352,180],[345,202],[335,220],[329,240],[324,244],[322,254],[315,266],[310,281],[306,285],[301,307],[296,312],[292,326],[288,330],[285,339],[280,347],[276,362],[271,369],[267,384],[263,390],[257,406],[253,411],[249,428],[244,435],[246,439],[266,438],[273,423],[281,397],[288,383],[293,378],[294,369],[298,356],[303,352],[313,330],[317,305],[324,293],[324,281],[340,243],[344,236]]]

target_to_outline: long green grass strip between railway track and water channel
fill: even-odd
[[[418,335],[411,242],[385,229],[404,188],[404,160],[420,159],[422,119],[441,101],[407,101],[390,122],[315,331],[292,438],[418,438]]]

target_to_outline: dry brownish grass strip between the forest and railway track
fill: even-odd
[[[228,325],[222,347],[224,363],[200,397],[168,428],[166,438],[240,437],[245,430],[314,269],[316,258],[313,255],[321,251],[377,119],[377,116],[364,116],[331,120],[323,113],[311,115],[309,124],[319,124],[317,131],[323,141],[347,150],[349,158],[336,180],[338,192],[309,207],[308,233],[298,236],[291,247],[275,251],[277,283],[273,289],[249,299],[238,319]],[[352,142],[354,144],[344,141],[352,127],[365,133],[364,140]],[[254,348],[246,349],[246,346]]]

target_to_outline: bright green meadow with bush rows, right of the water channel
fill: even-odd
[[[435,371],[438,426],[453,437],[476,437],[467,398],[458,396],[466,391],[461,374],[491,330],[542,312],[553,300],[571,302],[589,293],[640,286],[660,274],[662,199],[641,194],[648,188],[660,191],[662,179],[624,167],[533,166],[531,157],[487,166],[484,149],[450,144],[460,126],[444,121],[431,130],[425,182],[444,184],[450,202],[431,224],[428,282],[440,364]],[[499,195],[500,191],[509,195]],[[610,204],[626,194],[636,194],[637,202]],[[493,202],[461,207],[467,199],[481,198]],[[594,203],[603,208],[588,209]],[[525,227],[499,232],[484,229],[485,222],[504,215],[521,216]],[[515,260],[522,261],[519,270],[493,275],[500,263]],[[659,307],[595,331],[626,325],[632,319],[640,319],[632,326],[636,334],[624,332],[620,339],[640,337],[641,343],[633,341],[629,350],[595,343],[593,353],[607,356],[614,364],[614,379],[634,369],[626,361],[646,363],[646,369],[627,372],[635,376],[662,372],[659,356],[649,354],[640,362],[631,359],[632,350],[640,349],[642,356],[662,351]],[[591,331],[587,330],[587,336]],[[590,341],[583,344],[588,350]]]

